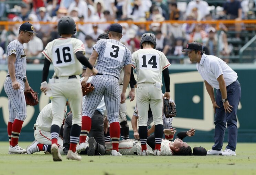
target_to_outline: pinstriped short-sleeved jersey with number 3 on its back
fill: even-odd
[[[93,48],[99,54],[96,65],[99,74],[119,77],[121,68],[133,63],[131,51],[115,39],[101,39]]]

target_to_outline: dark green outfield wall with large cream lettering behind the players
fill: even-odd
[[[256,65],[230,64],[230,66],[237,72],[242,87],[241,102],[237,111],[238,142],[256,142]],[[28,114],[21,131],[21,141],[34,140],[33,126],[36,117],[43,107],[50,102],[49,98],[40,91],[42,68],[43,65],[28,65],[27,67],[29,84],[35,91],[39,92],[39,104],[35,107],[27,106]],[[189,138],[188,141],[213,142],[214,112],[212,103],[203,80],[196,71],[195,64],[173,64],[169,70],[170,94],[177,106],[177,116],[173,119],[172,126],[177,128],[178,132],[195,128],[195,136]],[[8,98],[3,88],[6,74],[7,66],[0,65],[0,141],[8,141]],[[49,77],[52,75],[53,67],[51,66]],[[129,90],[128,88],[127,96]],[[127,99],[126,102],[130,138],[133,138],[130,120],[136,102],[135,100],[130,102],[130,99]],[[225,136],[224,141],[227,141],[227,136]]]

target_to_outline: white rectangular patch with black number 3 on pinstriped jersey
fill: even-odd
[[[124,58],[124,54],[125,54],[124,46],[113,45],[113,43],[111,42],[106,43],[104,57],[122,62]]]

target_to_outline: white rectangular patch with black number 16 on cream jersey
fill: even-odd
[[[65,66],[68,64],[74,64],[75,59],[73,55],[72,45],[62,45],[53,48],[53,65]]]

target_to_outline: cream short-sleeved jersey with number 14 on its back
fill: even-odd
[[[161,83],[162,71],[171,64],[163,52],[156,49],[139,49],[132,53],[132,67],[136,68],[137,84]]]

